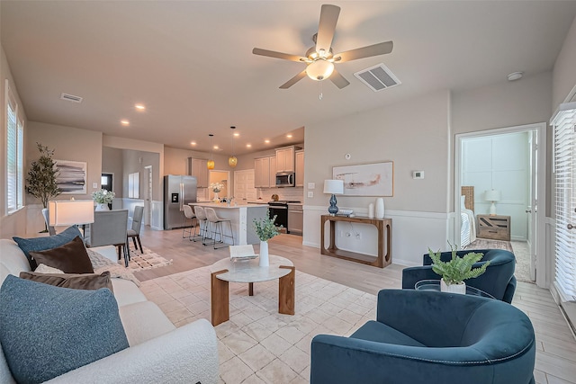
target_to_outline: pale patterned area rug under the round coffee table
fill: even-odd
[[[175,324],[210,320],[210,267],[143,281],[140,289]],[[307,383],[312,337],[351,335],[374,320],[376,297],[296,271],[294,316],[278,313],[278,281],[230,283],[230,320],[216,326],[220,382]]]

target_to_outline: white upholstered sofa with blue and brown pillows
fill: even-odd
[[[92,249],[103,255],[115,255],[113,247]],[[30,271],[22,250],[14,241],[0,239],[0,284],[8,274],[18,276],[22,271]],[[207,320],[175,328],[132,281],[112,279],[112,287],[130,347],[48,382],[218,382],[217,338]],[[0,383],[14,382],[0,345]]]

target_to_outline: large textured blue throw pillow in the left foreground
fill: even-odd
[[[71,290],[8,275],[0,344],[17,382],[40,383],[128,348],[112,292]]]

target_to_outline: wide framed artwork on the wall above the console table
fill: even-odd
[[[332,178],[344,181],[345,196],[394,195],[394,163],[344,165],[332,168]]]

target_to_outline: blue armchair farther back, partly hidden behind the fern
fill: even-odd
[[[488,260],[491,260],[491,263],[486,268],[486,272],[474,279],[467,280],[466,284],[490,293],[495,299],[511,303],[516,290],[516,277],[514,277],[516,257],[514,257],[514,254],[504,249],[474,249],[458,251],[456,255],[462,257],[462,255],[470,252],[484,254],[482,261],[475,263],[474,268],[481,266],[482,263]],[[441,254],[443,262],[447,262],[451,258],[451,252],[443,252]],[[414,285],[418,281],[428,279],[440,280],[440,276],[432,271],[432,259],[426,254],[423,257],[423,266],[404,268],[402,270],[402,289],[413,290]]]

